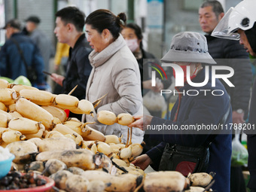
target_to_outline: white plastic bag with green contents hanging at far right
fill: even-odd
[[[231,166],[246,166],[248,163],[248,151],[239,142],[241,130],[236,130],[235,138],[232,141]]]

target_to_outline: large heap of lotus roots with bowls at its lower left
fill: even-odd
[[[0,167],[10,164],[0,170],[0,191],[209,191],[214,173],[145,174],[130,163],[145,145],[131,142],[132,115],[97,114],[101,123],[127,126],[130,139],[122,143],[64,111],[93,115],[93,107],[86,99],[0,79]]]

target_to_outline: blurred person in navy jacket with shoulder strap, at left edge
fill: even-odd
[[[32,40],[20,32],[20,21],[10,20],[4,29],[8,40],[0,51],[0,75],[11,79],[16,79],[20,75],[27,77],[26,65],[32,66],[32,69],[35,69],[37,81],[31,83],[44,84],[43,58]]]

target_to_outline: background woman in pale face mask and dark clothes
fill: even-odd
[[[151,86],[151,63],[155,62],[157,65],[160,65],[160,61],[148,51],[143,49],[142,44],[142,29],[136,23],[128,23],[121,31],[124,40],[126,41],[127,46],[133,52],[133,55],[136,57],[137,62],[139,64],[139,72],[141,75],[141,89],[142,89],[142,96],[145,96],[148,93],[148,90],[152,90],[154,92],[159,93],[160,90],[167,89],[171,84],[171,77],[168,75],[168,81],[164,80],[160,83],[156,84],[155,87]],[[150,59],[150,60],[149,60]],[[167,71],[169,72],[169,70]],[[157,73],[157,77],[159,77]],[[148,109],[152,116],[162,117],[162,110],[160,111],[151,111]],[[144,153],[154,147],[155,145],[159,144],[158,141],[154,139],[149,139],[149,135],[145,132],[144,141],[146,143],[145,147],[143,148]]]

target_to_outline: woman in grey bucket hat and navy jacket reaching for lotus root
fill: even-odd
[[[161,61],[164,62],[163,65],[172,63],[175,68],[175,83],[177,84],[179,78],[184,80],[184,86],[175,87],[178,99],[172,108],[169,120],[145,115],[144,117],[136,117],[138,120],[130,124],[130,126],[137,126],[142,130],[151,130],[151,137],[162,141],[151,151],[137,157],[133,163],[142,169],[151,165],[156,170],[178,170],[184,175],[187,175],[187,171],[216,172],[215,184],[213,184],[212,189],[230,191],[230,130],[228,128],[226,132],[215,132],[214,128],[219,124],[228,126],[229,123],[232,123],[232,111],[230,99],[223,84],[218,79],[212,82],[211,71],[207,71],[209,65],[214,65],[216,62],[208,53],[206,38],[197,32],[178,33],[172,38],[170,50]],[[178,66],[183,73],[176,70]],[[205,85],[202,87],[190,85],[205,82],[208,72],[209,81]],[[215,83],[215,87],[212,86],[213,83]],[[209,92],[206,93],[201,90],[209,90]],[[212,94],[216,90],[222,94],[218,96]],[[158,128],[156,129],[156,127]],[[208,127],[208,129],[194,131],[193,129],[190,130],[189,127],[195,129]],[[190,162],[190,164],[184,164],[186,168],[182,166],[182,169],[179,169],[180,162],[178,166],[170,169],[169,164],[175,160],[168,158],[169,146],[172,148],[173,146],[183,146],[184,148],[208,146],[208,167],[205,166],[204,169],[197,170],[198,164]],[[194,167],[187,169],[187,166],[191,165]]]

